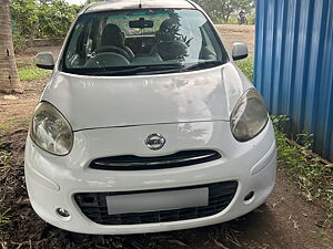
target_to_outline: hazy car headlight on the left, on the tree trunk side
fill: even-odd
[[[41,102],[34,111],[31,139],[44,151],[64,156],[73,146],[73,133],[68,121],[50,103]]]

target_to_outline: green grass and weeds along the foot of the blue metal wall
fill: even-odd
[[[323,164],[321,158],[311,152],[312,134],[304,132],[296,137],[302,137],[303,147],[287,139],[282,132],[286,116],[272,117],[275,127],[278,144],[278,162],[300,185],[304,197],[309,201],[321,200],[327,214],[327,221],[333,221],[333,164]],[[304,139],[305,138],[305,139]]]

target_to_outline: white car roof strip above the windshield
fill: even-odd
[[[186,0],[109,0],[103,2],[94,2],[90,4],[84,13],[101,12],[108,10],[129,10],[129,9],[195,9],[195,7]]]

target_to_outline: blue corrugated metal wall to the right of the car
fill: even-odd
[[[333,0],[256,0],[254,84],[333,162]]]

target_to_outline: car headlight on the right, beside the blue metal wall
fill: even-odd
[[[246,142],[259,135],[268,121],[268,110],[262,96],[254,89],[250,89],[231,113],[231,132],[239,142]]]

